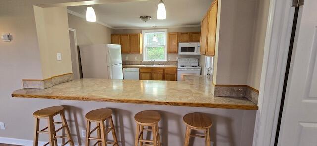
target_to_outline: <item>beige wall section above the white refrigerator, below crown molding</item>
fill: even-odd
[[[69,28],[76,29],[77,45],[111,43],[112,29],[68,14]]]

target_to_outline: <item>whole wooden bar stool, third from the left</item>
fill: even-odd
[[[160,136],[159,136],[160,119],[161,117],[159,112],[153,111],[153,110],[141,111],[134,116],[134,120],[137,123],[134,146],[139,146],[139,143],[140,143],[140,146],[160,146]],[[144,126],[148,126],[148,128],[144,128]],[[143,139],[144,130],[152,131],[153,140]]]

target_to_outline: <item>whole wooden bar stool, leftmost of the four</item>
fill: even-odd
[[[54,121],[54,116],[59,114],[61,117],[61,122],[55,122]],[[38,146],[38,141],[39,141],[39,134],[40,133],[46,133],[49,134],[49,142],[46,143],[44,146],[50,144],[50,146],[57,146],[57,138],[67,138],[68,141],[66,141],[62,146],[66,145],[67,143],[70,144],[70,146],[74,146],[74,141],[70,135],[70,131],[65,119],[64,115],[64,107],[63,106],[53,106],[53,107],[48,107],[44,108],[38,111],[35,111],[33,113],[33,116],[35,117],[35,133],[34,133],[34,141],[33,141],[33,146]],[[48,119],[48,126],[43,128],[42,130],[39,130],[39,123],[40,119],[46,118]],[[61,124],[62,126],[55,130],[55,124]],[[66,135],[67,136],[58,136],[57,132],[64,129],[66,130]],[[47,131],[45,131],[48,129]]]

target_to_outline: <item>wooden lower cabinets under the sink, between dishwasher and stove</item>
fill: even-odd
[[[177,80],[177,68],[140,68],[140,80]]]

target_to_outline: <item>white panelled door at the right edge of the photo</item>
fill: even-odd
[[[278,146],[317,146],[317,0],[300,6]]]

